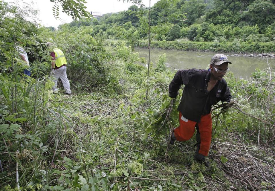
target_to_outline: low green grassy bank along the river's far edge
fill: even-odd
[[[117,46],[121,44],[119,40],[105,40],[105,45]],[[135,48],[148,48],[148,41],[137,42]],[[259,55],[264,53],[273,56],[275,52],[275,42],[248,43],[235,40],[233,42],[194,42],[186,40],[175,41],[152,41],[151,48],[165,50],[188,50],[204,52],[227,52],[240,55]]]

